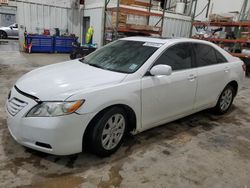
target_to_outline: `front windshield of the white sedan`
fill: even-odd
[[[118,40],[97,50],[80,61],[106,70],[133,73],[161,44]]]

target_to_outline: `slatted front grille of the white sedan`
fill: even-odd
[[[12,115],[15,116],[20,112],[28,103],[13,97],[7,102],[7,110]]]

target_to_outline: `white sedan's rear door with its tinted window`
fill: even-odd
[[[230,67],[226,58],[214,47],[194,43],[197,66],[197,93],[195,109],[211,107],[226,86]]]

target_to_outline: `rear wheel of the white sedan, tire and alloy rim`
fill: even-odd
[[[227,85],[221,92],[221,95],[214,108],[214,112],[219,115],[227,113],[227,111],[232,106],[235,94],[235,89],[231,85]]]

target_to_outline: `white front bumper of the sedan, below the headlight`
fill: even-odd
[[[27,103],[14,116],[6,110],[8,129],[18,143],[55,155],[70,155],[82,151],[83,134],[94,114],[73,113],[58,117],[25,117],[37,103],[15,89],[11,92],[11,98],[13,97]]]

